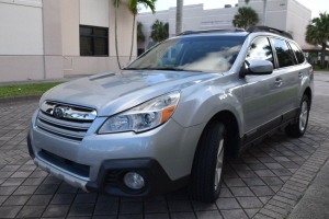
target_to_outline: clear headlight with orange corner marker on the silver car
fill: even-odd
[[[173,114],[181,93],[174,91],[152,99],[139,106],[110,117],[100,128],[99,134],[122,131],[140,132],[166,123]]]

